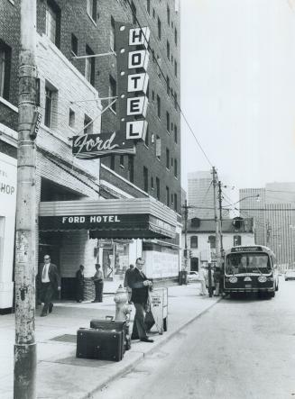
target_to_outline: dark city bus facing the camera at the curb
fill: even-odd
[[[224,294],[258,293],[273,297],[278,289],[278,273],[271,249],[252,245],[226,251]]]

